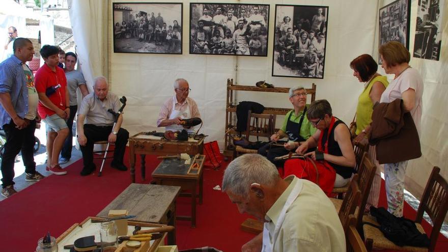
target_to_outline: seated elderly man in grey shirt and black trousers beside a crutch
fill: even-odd
[[[126,171],[127,167],[123,164],[123,156],[129,132],[121,128],[122,114],[118,116],[117,124],[113,128],[115,116],[107,111],[112,109],[117,113],[121,107],[120,100],[117,95],[108,92],[107,80],[103,76],[95,78],[93,89],[93,93],[82,99],[76,122],[77,137],[84,164],[81,176],[87,176],[96,169],[93,163],[93,145],[97,141],[107,140],[111,144],[115,143],[114,159],[110,166],[120,171]]]

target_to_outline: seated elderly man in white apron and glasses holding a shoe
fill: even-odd
[[[186,128],[180,125],[182,119],[201,118],[198,105],[193,99],[188,97],[190,91],[188,81],[185,79],[176,79],[174,81],[174,92],[176,95],[163,103],[157,119],[157,127],[165,127],[165,130],[171,131],[186,129],[188,132],[194,132],[193,127]]]

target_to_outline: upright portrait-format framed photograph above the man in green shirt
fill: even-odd
[[[324,76],[327,6],[275,5],[272,76]]]

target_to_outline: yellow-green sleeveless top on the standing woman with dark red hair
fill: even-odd
[[[386,76],[376,76],[359,95],[358,106],[356,107],[356,134],[361,133],[361,131],[372,122],[373,102],[370,99],[369,94],[372,90],[373,83],[377,81],[383,83],[384,88],[389,85]]]

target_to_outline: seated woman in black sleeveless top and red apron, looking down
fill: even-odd
[[[354,172],[356,161],[350,131],[343,121],[333,117],[327,100],[311,103],[306,116],[318,130],[297,148],[296,153],[315,160],[316,167],[306,158],[290,159],[285,162],[284,176],[293,174],[313,181],[330,195],[333,187],[345,186]],[[314,147],[317,147],[316,151],[306,153]]]

